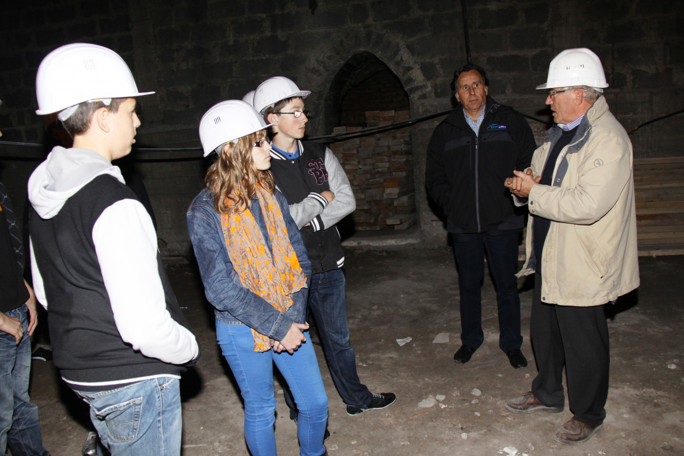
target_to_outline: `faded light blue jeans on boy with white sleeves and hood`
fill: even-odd
[[[111,456],[179,456],[179,380],[159,377],[106,391],[74,390],[90,405],[90,420]]]

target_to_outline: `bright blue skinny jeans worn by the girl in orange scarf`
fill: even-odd
[[[316,353],[307,341],[292,355],[287,351],[254,351],[248,325],[226,325],[216,320],[216,338],[245,401],[245,440],[252,456],[276,456],[276,397],[273,364],[285,377],[300,414],[297,436],[302,456],[320,456],[328,420],[328,397],[321,379]]]

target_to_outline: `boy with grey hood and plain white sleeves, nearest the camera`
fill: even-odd
[[[75,43],[38,68],[38,113],[57,112],[73,147],[29,178],[36,297],[53,360],[112,456],[180,455],[180,373],[199,356],[157,249],[152,219],[111,164],[140,126],[119,55]]]

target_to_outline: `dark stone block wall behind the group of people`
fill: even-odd
[[[684,105],[682,0],[466,3],[473,62],[488,70],[489,94],[499,103],[548,120],[544,94],[534,88],[545,81],[554,55],[586,46],[601,57],[610,84],[605,96],[628,130]],[[330,88],[358,53],[371,53],[397,76],[411,118],[452,107],[449,83],[453,71],[466,63],[461,2],[453,0],[5,2],[0,14],[2,139],[42,142],[44,122],[34,112],[36,70],[44,55],[70,42],[114,49],[131,66],[138,87],[157,92],[139,100],[142,126],[136,145],[168,148],[199,146],[202,113],[220,100],[241,98],[274,75],[313,92],[306,98],[307,109],[317,114],[307,127],[313,137],[332,133],[325,128],[326,109],[332,111],[336,103],[328,97],[343,94]],[[443,226],[432,221],[424,189],[425,149],[439,120],[410,127],[410,150],[421,229],[428,237],[445,239]],[[636,158],[681,155],[684,115],[650,124],[631,139]],[[163,254],[185,254],[183,207],[198,191],[202,172],[179,179],[189,163],[174,161],[172,153],[169,157],[168,167],[177,172],[150,165],[145,174],[155,210],[169,211],[160,230],[177,240]],[[3,172],[0,178],[25,188],[21,175]],[[176,195],[172,205],[163,197],[167,194]]]

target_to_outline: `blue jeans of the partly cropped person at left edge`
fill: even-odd
[[[0,455],[8,446],[14,456],[50,454],[42,446],[38,407],[29,399],[31,338],[26,332],[27,312],[25,304],[4,312],[19,319],[24,327],[19,345],[14,336],[0,331]]]

